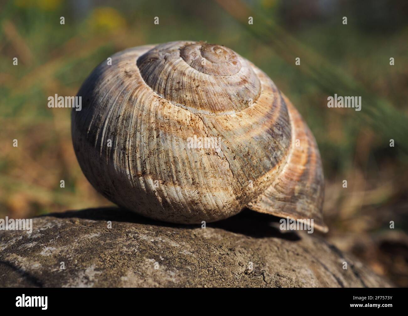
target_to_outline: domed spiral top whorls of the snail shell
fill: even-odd
[[[136,65],[155,93],[193,113],[233,114],[261,92],[250,63],[221,45],[164,43],[140,56]]]

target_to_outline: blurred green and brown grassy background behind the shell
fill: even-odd
[[[308,122],[326,177],[325,238],[408,286],[407,16],[397,0],[0,2],[0,218],[110,205],[76,161],[70,110],[49,109],[48,96],[75,95],[127,47],[204,40],[254,62]],[[362,96],[361,111],[329,109],[334,93]]]

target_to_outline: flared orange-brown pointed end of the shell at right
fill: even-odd
[[[328,231],[323,222],[324,177],[319,150],[299,112],[284,97],[288,107],[293,137],[291,153],[281,174],[248,207],[261,213],[293,219],[312,219],[320,231]],[[296,139],[300,147],[295,146]]]

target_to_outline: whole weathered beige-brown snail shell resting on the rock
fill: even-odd
[[[114,203],[173,223],[221,220],[244,207],[310,218],[321,231],[324,178],[302,117],[272,80],[220,45],[126,49],[96,67],[72,111],[89,182]],[[218,149],[188,139],[221,140]]]

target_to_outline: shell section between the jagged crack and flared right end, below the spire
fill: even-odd
[[[255,66],[254,66],[255,67]],[[210,134],[220,136],[222,152],[234,175],[237,196],[248,203],[261,194],[285,164],[291,127],[285,102],[273,93],[273,82],[262,76],[262,93],[253,106],[231,116],[198,114]],[[249,189],[249,182],[253,189]]]

